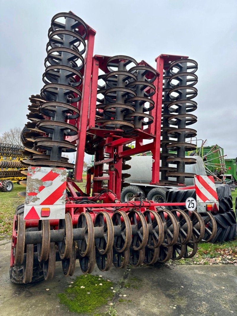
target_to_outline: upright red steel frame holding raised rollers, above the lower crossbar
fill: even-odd
[[[84,79],[82,84],[82,100],[78,107],[81,109],[80,118],[76,124],[78,127],[78,135],[69,140],[76,141],[77,152],[75,162],[74,180],[68,181],[68,188],[73,198],[78,199],[73,188],[81,193],[82,196],[89,196],[91,191],[91,173],[93,178],[92,196],[100,193],[102,189],[102,180],[108,181],[108,189],[115,193],[116,197],[120,198],[122,180],[122,159],[126,156],[136,155],[151,151],[153,155],[152,164],[152,179],[150,184],[159,185],[160,174],[160,139],[161,139],[161,111],[162,111],[162,87],[163,87],[163,70],[169,67],[170,63],[181,58],[188,58],[187,56],[176,56],[162,54],[158,56],[156,61],[157,77],[153,84],[155,85],[155,94],[151,97],[155,101],[155,107],[150,111],[150,115],[154,117],[154,122],[148,126],[147,129],[136,129],[136,137],[125,138],[119,136],[119,130],[109,131],[95,127],[95,113],[96,113],[96,98],[97,98],[97,83],[99,69],[107,73],[106,63],[109,56],[95,55],[93,57],[94,36],[96,32],[88,27],[87,51],[85,57]],[[139,65],[147,65],[142,60]],[[104,141],[100,143],[100,149],[95,155],[94,167],[92,167],[87,174],[87,185],[85,193],[75,184],[82,181],[82,170],[85,152],[85,143],[87,133],[102,137]],[[143,139],[152,140],[148,144],[143,144]],[[123,151],[123,146],[135,142],[135,148]],[[104,154],[109,154],[109,158],[104,158]],[[108,163],[108,176],[103,176],[103,164]],[[79,198],[80,199],[80,198]]]

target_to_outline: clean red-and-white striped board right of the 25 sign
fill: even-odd
[[[212,176],[195,175],[197,202],[218,202],[216,186]]]

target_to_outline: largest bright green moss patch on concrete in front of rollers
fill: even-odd
[[[58,297],[60,303],[66,305],[71,312],[92,313],[113,296],[111,289],[113,283],[99,276],[90,274],[77,276],[74,283],[70,285],[64,293],[58,294]]]

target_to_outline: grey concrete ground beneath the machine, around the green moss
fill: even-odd
[[[53,280],[15,285],[9,279],[10,247],[9,240],[0,241],[0,315],[78,315],[61,305],[57,294],[81,274],[79,262],[72,277],[64,277],[58,262]],[[119,302],[118,294],[113,298],[118,316],[237,315],[234,265],[112,268],[108,272],[94,269],[93,274],[125,284],[119,293],[127,295],[123,299],[129,301]]]

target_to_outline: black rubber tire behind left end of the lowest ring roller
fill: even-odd
[[[24,204],[19,205],[15,210],[15,215],[21,215],[24,213]],[[29,228],[30,229],[30,228]],[[36,248],[36,246],[34,246]],[[37,250],[35,249],[35,252]],[[43,266],[38,261],[37,252],[34,255],[33,276],[31,283],[44,280]],[[12,283],[23,284],[23,265],[14,266],[9,269],[9,276]]]

